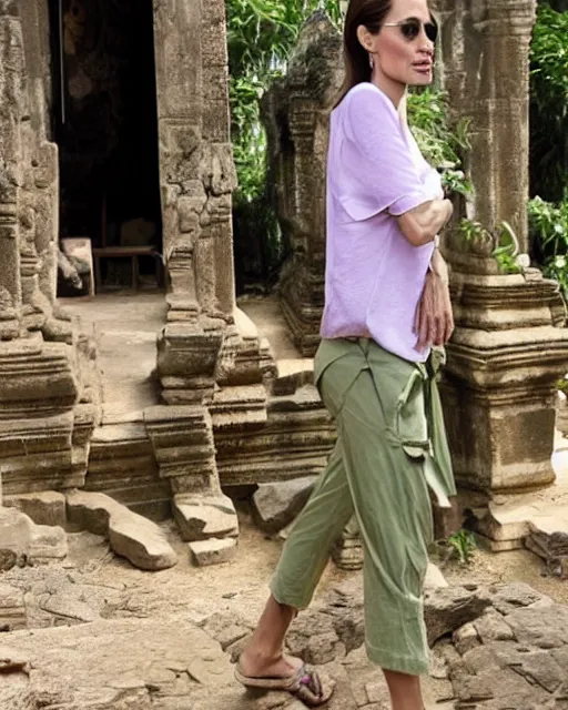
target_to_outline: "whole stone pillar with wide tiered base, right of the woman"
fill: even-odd
[[[455,118],[471,119],[475,197],[459,216],[500,221],[527,245],[528,69],[535,0],[438,0],[443,73]],[[555,479],[557,378],[568,333],[557,286],[536,270],[499,274],[493,244],[445,235],[456,332],[442,394],[458,484],[513,493]]]

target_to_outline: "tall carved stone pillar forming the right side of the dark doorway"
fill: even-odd
[[[223,0],[154,0],[154,44],[163,251],[170,277],[158,373],[169,406],[154,407],[145,419],[160,475],[175,494],[178,520],[182,530],[190,530],[190,520],[183,520],[192,515],[192,501],[199,498],[200,510],[212,516],[220,505],[215,413],[231,414],[234,403],[247,410],[260,405],[253,419],[265,419],[266,395],[262,385],[247,399],[231,393],[231,385],[251,382],[234,382],[242,373],[239,353],[250,351],[250,343],[235,324],[231,195],[236,179]],[[253,359],[257,384],[257,342]],[[254,364],[248,369],[254,372]],[[223,505],[232,509],[230,500]],[[236,527],[234,517],[231,535]]]

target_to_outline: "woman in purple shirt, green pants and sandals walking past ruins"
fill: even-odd
[[[351,0],[346,82],[332,112],[326,303],[315,378],[335,418],[336,448],[297,519],[237,679],[318,706],[317,674],[283,641],[353,513],[365,564],[365,633],[393,710],[423,710],[428,653],[422,588],[432,539],[430,488],[455,495],[432,345],[453,329],[435,250],[452,215],[439,176],[406,125],[408,84],[433,79],[437,28],[426,0]]]

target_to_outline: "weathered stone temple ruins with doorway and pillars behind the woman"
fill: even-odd
[[[440,81],[455,118],[471,119],[475,197],[458,212],[489,229],[507,220],[526,251],[535,0],[433,6],[443,26]],[[267,311],[235,297],[224,2],[0,0],[4,508],[47,524],[38,494],[54,491],[90,528],[106,510],[116,550],[116,520],[128,527],[129,510],[173,513],[184,539],[213,539],[225,559],[239,536],[227,494],[322,470],[335,432],[311,358],[323,307],[327,116],[341,74],[341,36],[316,14],[263,102],[275,207],[291,246]],[[134,286],[155,271],[162,295],[152,314],[144,301],[112,293],[69,307],[58,301],[58,264],[69,263],[63,245],[72,240],[90,240],[91,287],[120,281],[124,263]],[[444,250],[457,329],[442,389],[456,476],[463,508],[503,549],[532,529],[535,489],[568,508],[550,463],[555,383],[568,355],[564,307],[538,271],[498,273],[487,245],[465,253],[448,230]],[[111,357],[93,327],[104,308],[120,327],[142,323],[143,337]],[[75,314],[87,310],[92,317],[80,324]],[[282,323],[286,347],[267,313]],[[142,351],[152,361],[144,396],[116,406],[113,367],[121,363],[122,386]],[[538,530],[546,549],[556,529]],[[352,538],[347,531],[344,544]]]

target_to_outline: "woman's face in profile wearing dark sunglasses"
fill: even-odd
[[[427,0],[393,0],[378,34],[364,33],[367,50],[367,42],[372,43],[374,73],[405,85],[430,84],[434,41],[427,37],[429,30],[425,26],[432,22]]]

